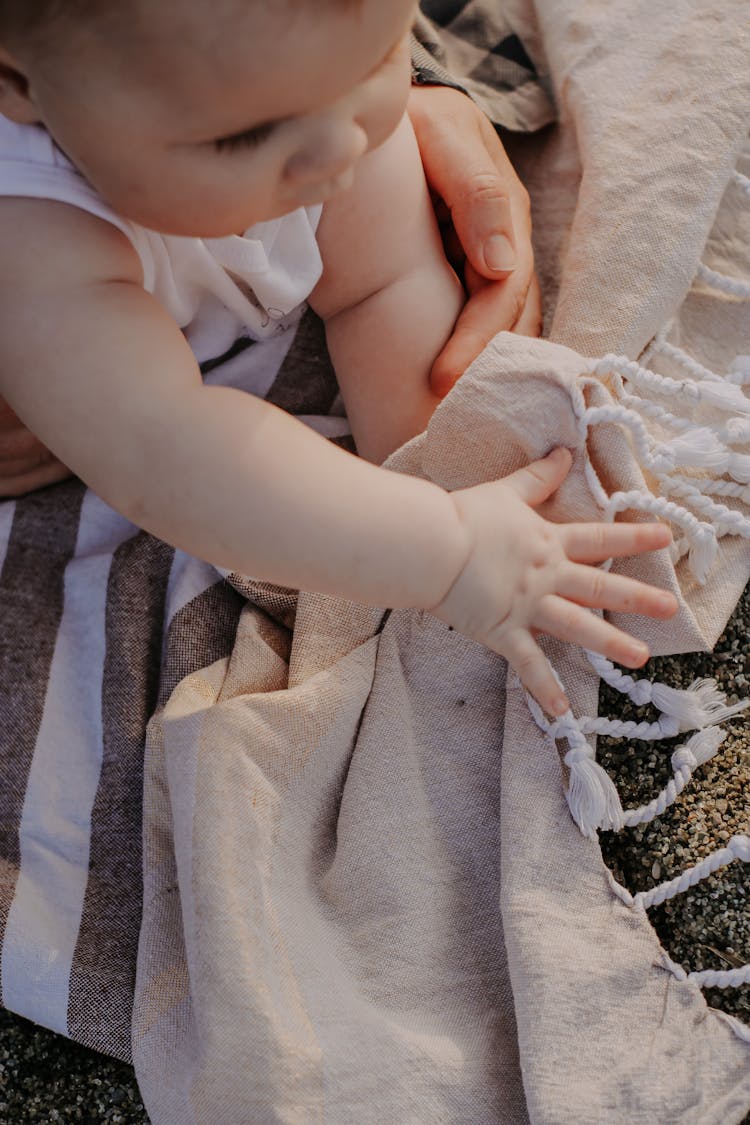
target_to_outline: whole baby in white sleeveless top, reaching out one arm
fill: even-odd
[[[584,606],[667,618],[675,600],[588,564],[669,531],[543,520],[564,450],[454,493],[378,467],[430,418],[463,303],[404,116],[414,10],[0,0],[0,394],[153,534],[282,585],[430,610],[559,714],[535,634],[642,664],[644,645]],[[270,335],[306,297],[359,458],[200,377],[222,324]]]

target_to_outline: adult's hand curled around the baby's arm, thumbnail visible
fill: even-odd
[[[408,111],[445,251],[469,295],[430,376],[444,396],[496,333],[541,331],[531,209],[495,128],[464,93],[415,86]]]

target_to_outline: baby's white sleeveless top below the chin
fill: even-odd
[[[39,125],[0,115],[0,195],[55,199],[118,227],[138,254],[144,288],[164,306],[199,360],[240,336],[275,335],[295,323],[323,271],[315,232],[322,205],[305,207],[244,235],[183,238],[121,218]]]

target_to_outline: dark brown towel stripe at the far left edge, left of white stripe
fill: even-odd
[[[0,942],[18,879],[24,795],[84,492],[80,480],[66,480],[19,500],[0,575]]]

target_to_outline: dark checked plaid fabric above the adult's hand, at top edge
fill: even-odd
[[[555,119],[544,60],[532,58],[533,16],[516,26],[499,0],[423,0],[412,37],[413,79],[454,86],[496,125],[531,133]]]

